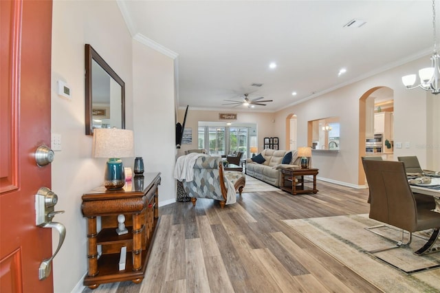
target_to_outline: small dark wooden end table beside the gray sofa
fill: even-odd
[[[281,186],[283,191],[297,195],[298,193],[318,193],[316,189],[316,175],[319,169],[298,169],[291,168],[281,169]],[[307,180],[304,176],[313,176],[313,181]],[[308,188],[305,184],[313,182],[314,187]],[[287,184],[286,184],[287,183]]]

